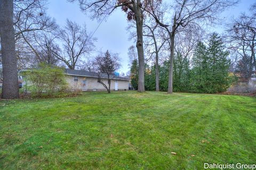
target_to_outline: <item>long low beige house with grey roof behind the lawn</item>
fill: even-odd
[[[98,74],[95,72],[65,69],[66,80],[70,90],[103,91],[106,90],[98,82]],[[108,86],[107,74],[100,74],[101,80]],[[129,90],[129,79],[111,75],[111,90]]]

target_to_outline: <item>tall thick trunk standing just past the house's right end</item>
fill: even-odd
[[[138,58],[139,58],[139,80],[138,80],[138,91],[143,92],[145,91],[144,85],[144,51],[143,51],[143,34],[142,34],[142,13],[141,13],[141,3],[138,0],[137,4],[135,5],[134,2],[134,13],[135,13],[135,21],[136,21],[136,28],[137,28],[137,51],[138,51]]]

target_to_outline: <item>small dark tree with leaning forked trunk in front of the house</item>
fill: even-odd
[[[114,72],[120,67],[117,55],[114,54],[111,56],[107,50],[104,56],[100,55],[95,58],[94,65],[98,70],[98,82],[110,93],[111,77],[113,77]],[[107,74],[108,86],[102,80],[103,74]]]

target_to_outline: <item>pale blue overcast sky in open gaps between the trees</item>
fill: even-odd
[[[238,16],[241,12],[246,12],[253,3],[255,3],[255,0],[241,0],[238,5],[231,7],[228,11],[221,14],[225,18],[223,23],[233,16]],[[77,3],[68,3],[65,0],[49,0],[47,13],[55,18],[61,27],[65,25],[66,19],[75,21],[81,25],[85,23],[89,32],[94,32],[99,25],[96,20],[92,21],[82,13]],[[126,28],[126,16],[124,12],[117,9],[108,17],[106,22],[103,21],[100,24],[100,27],[93,36],[98,38],[98,41],[94,43],[97,50],[102,49],[105,52],[108,49],[113,53],[119,53],[122,64],[120,72],[124,73],[129,71],[128,48],[131,45],[135,45],[133,41],[129,41],[129,33],[127,33]],[[221,25],[218,25],[213,31],[221,33],[223,28]],[[97,53],[92,54],[92,57],[95,55]]]

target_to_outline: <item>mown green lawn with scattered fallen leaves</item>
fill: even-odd
[[[0,101],[0,169],[255,164],[255,139],[250,97],[124,91]]]

